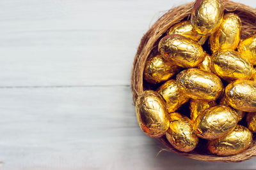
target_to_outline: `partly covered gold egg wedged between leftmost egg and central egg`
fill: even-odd
[[[189,98],[180,92],[175,80],[168,80],[157,89],[165,101],[169,113],[176,111],[182,104],[186,103]]]

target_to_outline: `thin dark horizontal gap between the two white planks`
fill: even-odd
[[[130,87],[130,85],[49,85],[49,86],[0,86],[0,89],[31,89],[31,88],[77,88],[77,87]]]

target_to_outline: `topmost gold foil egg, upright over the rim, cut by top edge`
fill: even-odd
[[[191,13],[191,24],[198,34],[212,34],[220,27],[223,13],[221,0],[197,0]]]

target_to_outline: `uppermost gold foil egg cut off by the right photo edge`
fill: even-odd
[[[256,65],[256,34],[248,36],[248,38],[242,40],[238,47],[238,52],[245,59],[250,60],[253,65]]]

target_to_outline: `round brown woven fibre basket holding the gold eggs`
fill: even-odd
[[[243,28],[241,38],[245,38],[249,34],[256,31],[256,10],[250,6],[246,6],[240,3],[234,3],[232,1],[223,0],[225,5],[225,13],[232,12],[239,15],[242,20]],[[156,85],[147,83],[143,81],[143,70],[147,58],[150,55],[155,55],[157,53],[157,44],[161,38],[166,34],[166,31],[181,20],[189,20],[190,14],[194,3],[187,3],[181,6],[177,6],[172,10],[167,11],[157,22],[152,25],[152,27],[147,31],[147,33],[141,39],[138,51],[134,58],[132,77],[131,77],[131,90],[133,95],[133,101],[135,103],[138,95],[146,89],[156,89]],[[220,157],[216,155],[211,155],[205,149],[205,140],[200,139],[198,146],[192,152],[179,152],[170,145],[167,139],[164,137],[159,138],[159,141],[166,146],[166,151],[176,152],[185,157],[191,159],[204,160],[210,162],[241,162],[243,160],[251,159],[256,156],[256,138],[253,138],[252,145],[245,150],[243,153],[237,155],[232,155],[228,157]]]

